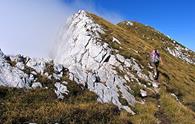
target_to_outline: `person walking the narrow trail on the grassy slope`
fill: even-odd
[[[151,57],[151,64],[154,67],[154,80],[158,80],[159,77],[158,66],[160,62],[162,62],[159,51],[157,49],[154,49],[151,52],[150,57]]]

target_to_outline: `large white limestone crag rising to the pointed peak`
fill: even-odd
[[[136,102],[127,86],[127,80],[138,80],[127,73],[125,78],[118,70],[127,72],[132,69],[139,78],[150,81],[142,73],[142,66],[135,59],[125,59],[120,54],[113,54],[113,49],[102,41],[104,29],[96,24],[85,11],[79,11],[66,22],[56,47],[54,61],[63,64],[70,71],[70,79],[82,84],[98,95],[98,101],[113,103],[130,113],[129,106]],[[120,41],[114,38],[114,41]],[[125,99],[128,105],[123,105]]]

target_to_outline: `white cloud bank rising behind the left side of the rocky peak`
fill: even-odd
[[[118,14],[104,9],[100,12],[93,2],[83,0],[1,0],[0,48],[6,54],[48,57],[66,18],[79,9],[113,23],[122,20]]]

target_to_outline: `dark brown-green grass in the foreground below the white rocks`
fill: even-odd
[[[52,89],[0,87],[0,123],[131,123],[117,106],[97,103],[94,93],[67,81],[70,92],[64,100],[58,100]]]

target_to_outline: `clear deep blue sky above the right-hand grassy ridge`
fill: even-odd
[[[194,0],[95,0],[95,5],[150,25],[195,51]]]

